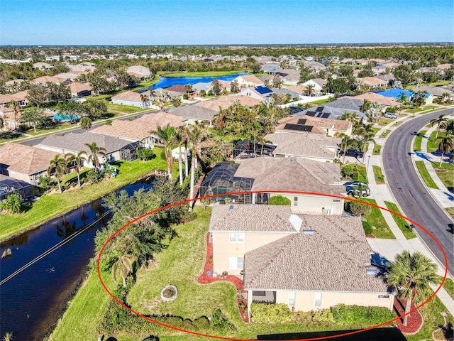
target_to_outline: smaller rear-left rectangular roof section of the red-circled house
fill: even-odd
[[[230,207],[233,206],[233,210]],[[297,232],[289,206],[214,205],[209,231]]]

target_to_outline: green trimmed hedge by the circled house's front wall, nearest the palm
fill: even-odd
[[[342,325],[367,323],[378,325],[392,320],[395,315],[392,310],[384,307],[363,307],[361,305],[339,304],[331,307],[334,320]]]

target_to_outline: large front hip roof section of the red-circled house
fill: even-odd
[[[384,293],[359,217],[301,215],[303,227],[245,254],[247,289]],[[311,229],[313,234],[305,234]]]

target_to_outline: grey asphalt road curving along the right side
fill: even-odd
[[[442,207],[438,206],[431,193],[428,193],[411,162],[413,152],[411,142],[414,136],[423,126],[430,123],[431,119],[437,119],[441,114],[453,114],[453,109],[424,114],[395,129],[382,148],[382,162],[389,188],[404,211],[402,214],[421,224],[436,237],[445,251],[448,258],[448,271],[453,276],[454,234],[452,231],[454,220]],[[441,264],[445,264],[443,252],[436,242],[423,231],[418,232],[423,242],[441,261]]]

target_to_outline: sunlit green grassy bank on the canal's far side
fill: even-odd
[[[157,168],[167,168],[165,161],[160,158],[152,161],[118,161],[114,165],[118,168],[116,178],[105,179],[100,183],[82,185],[81,188],[65,190],[63,193],[43,195],[39,200],[33,202],[24,212],[16,215],[0,215],[0,241],[21,234],[28,229],[38,227],[55,217],[60,217],[87,202],[103,197],[118,188],[128,185],[148,173],[153,173]],[[62,185],[74,183],[75,173],[67,174],[62,178]],[[84,173],[81,175],[84,177]]]

